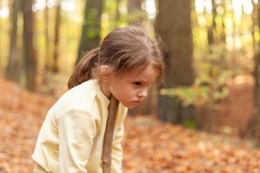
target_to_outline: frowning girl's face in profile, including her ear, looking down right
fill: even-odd
[[[113,94],[122,105],[131,109],[147,96],[148,87],[155,82],[157,69],[152,64],[146,70],[127,75],[119,80],[107,81],[101,91],[109,98]]]

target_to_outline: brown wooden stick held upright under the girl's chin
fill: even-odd
[[[112,142],[114,135],[114,126],[116,122],[116,113],[118,111],[118,100],[112,95],[108,107],[107,125],[103,142],[102,169],[103,173],[111,172],[112,162]]]

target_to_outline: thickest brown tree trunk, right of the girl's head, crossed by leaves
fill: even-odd
[[[192,85],[192,27],[191,9],[188,0],[160,0],[155,31],[164,42],[166,62],[166,88]],[[167,51],[166,51],[167,50]],[[163,85],[159,89],[164,88]],[[160,120],[185,123],[194,120],[193,107],[183,107],[181,101],[169,96],[158,96],[157,114]]]

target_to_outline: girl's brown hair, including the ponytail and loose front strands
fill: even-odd
[[[100,48],[83,55],[68,81],[68,88],[89,79],[102,80],[103,65],[109,66],[105,76],[120,78],[145,70],[151,63],[159,72],[156,82],[160,83],[164,80],[165,67],[157,43],[141,27],[116,28],[104,38]]]

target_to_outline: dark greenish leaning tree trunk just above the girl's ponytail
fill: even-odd
[[[102,8],[102,0],[86,1],[85,16],[76,64],[79,62],[79,59],[81,59],[83,52],[90,51],[94,47],[99,46]]]

